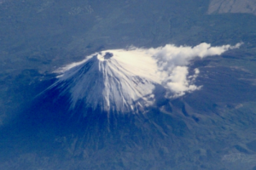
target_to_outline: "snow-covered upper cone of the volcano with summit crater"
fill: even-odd
[[[73,65],[72,65],[73,66]],[[71,67],[72,67],[71,66]],[[153,58],[143,53],[108,50],[92,54],[58,77],[51,87],[70,94],[71,108],[79,100],[102,111],[143,111],[154,104],[153,90],[160,74]]]

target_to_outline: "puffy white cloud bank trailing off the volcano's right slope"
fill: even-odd
[[[177,97],[192,92],[200,87],[195,86],[195,78],[200,73],[199,69],[195,69],[192,75],[189,75],[189,63],[195,58],[205,58],[207,56],[220,55],[224,52],[240,48],[242,43],[237,43],[235,46],[223,45],[212,47],[209,43],[201,43],[195,47],[175,46],[166,44],[160,48],[133,48],[137,52],[148,54],[148,57],[155,59],[158,71],[163,76],[161,84],[170,90],[168,97]],[[190,73],[191,74],[191,73]]]

